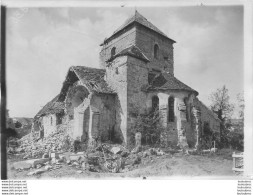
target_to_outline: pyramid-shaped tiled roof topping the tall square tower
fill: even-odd
[[[137,10],[135,11],[134,15],[128,18],[123,25],[121,25],[116,31],[113,32],[113,34],[104,40],[104,42],[101,44],[103,45],[104,43],[108,42],[112,37],[114,37],[116,34],[119,32],[123,31],[126,27],[133,23],[138,23],[160,35],[163,37],[171,40],[172,42],[176,42],[173,39],[169,38],[165,33],[163,33],[161,30],[159,30],[155,25],[153,25],[151,22],[149,22],[144,16],[142,16]]]

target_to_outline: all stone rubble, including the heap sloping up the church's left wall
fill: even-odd
[[[147,162],[154,161],[154,158],[166,155],[160,148],[143,147],[139,140],[140,136],[137,134],[136,145],[131,152],[122,145],[104,143],[99,144],[95,149],[77,153],[71,152],[71,148],[66,151],[61,146],[60,142],[66,139],[62,132],[37,141],[32,141],[31,137],[26,136],[26,139],[20,141],[21,149],[15,151],[23,153],[25,159],[34,157],[38,159],[14,163],[14,169],[33,169],[28,175],[37,175],[60,169],[65,165],[76,168],[77,173],[83,171],[119,173],[131,171],[140,164],[145,165]]]

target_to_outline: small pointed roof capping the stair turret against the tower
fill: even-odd
[[[132,56],[140,60],[143,60],[144,62],[150,61],[138,47],[136,47],[135,45],[132,45],[128,48],[121,50],[119,53],[115,54],[114,56],[112,56],[110,59],[107,60],[107,62],[111,62],[119,56]]]

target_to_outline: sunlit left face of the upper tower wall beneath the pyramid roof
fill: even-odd
[[[127,27],[124,32],[117,35],[114,39],[103,45],[99,54],[100,68],[105,68],[106,61],[111,57],[111,49],[116,48],[116,54],[125,48],[135,45],[136,28]]]

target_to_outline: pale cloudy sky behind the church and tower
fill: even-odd
[[[175,76],[209,96],[223,85],[231,102],[243,92],[243,7],[137,7],[176,41]],[[135,8],[8,8],[7,108],[11,117],[34,117],[62,87],[70,66],[99,68],[99,44]]]

